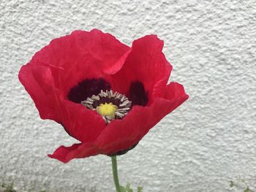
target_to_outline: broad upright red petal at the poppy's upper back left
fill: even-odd
[[[70,88],[86,78],[110,79],[108,74],[121,69],[129,49],[112,35],[97,29],[74,31],[53,39],[34,55],[31,64],[49,66],[56,87],[67,95]]]

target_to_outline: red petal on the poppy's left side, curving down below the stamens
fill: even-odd
[[[40,117],[61,123],[67,133],[80,142],[96,139],[105,128],[100,115],[65,99],[61,91],[54,88],[49,67],[27,64],[20,69],[19,79],[34,100]]]

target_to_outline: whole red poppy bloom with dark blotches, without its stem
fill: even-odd
[[[19,80],[42,119],[55,120],[78,139],[50,158],[67,163],[91,155],[120,155],[188,99],[170,82],[172,66],[156,35],[132,47],[94,29],[53,39],[21,67]]]

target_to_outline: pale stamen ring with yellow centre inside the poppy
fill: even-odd
[[[108,124],[111,120],[124,118],[131,109],[132,101],[121,93],[101,90],[97,96],[92,95],[81,101],[81,104],[89,110],[98,112]]]

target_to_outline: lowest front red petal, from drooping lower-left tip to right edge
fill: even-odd
[[[166,86],[165,99],[157,98],[149,107],[133,107],[125,118],[112,121],[96,142],[84,142],[70,147],[61,146],[48,156],[67,163],[72,158],[86,158],[126,150],[138,143],[150,128],[187,99],[183,86],[171,82]]]

